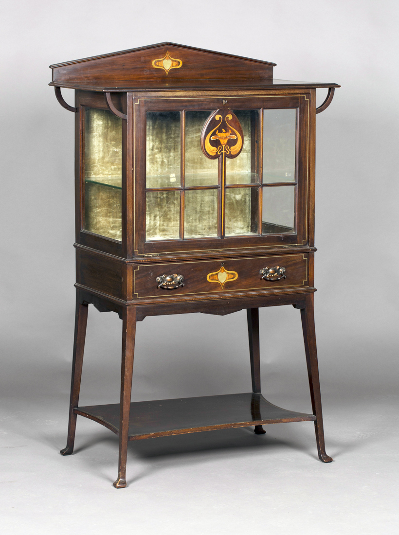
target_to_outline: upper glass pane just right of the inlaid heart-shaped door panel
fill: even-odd
[[[226,184],[255,184],[259,181],[258,110],[233,110],[244,134],[243,150],[226,158]]]

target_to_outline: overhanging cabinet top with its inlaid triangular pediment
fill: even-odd
[[[158,43],[50,65],[51,86],[88,91],[340,87],[273,79],[275,63]]]

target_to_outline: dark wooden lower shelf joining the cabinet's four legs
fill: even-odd
[[[78,407],[75,414],[119,433],[119,403]],[[276,407],[262,394],[139,401],[130,404],[129,440],[281,422],[315,421],[313,414]]]

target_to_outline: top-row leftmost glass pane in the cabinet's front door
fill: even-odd
[[[180,112],[147,111],[146,187],[180,186]]]

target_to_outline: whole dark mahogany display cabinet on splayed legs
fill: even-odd
[[[161,43],[51,65],[76,129],[76,326],[67,445],[77,415],[127,442],[314,422],[325,452],[313,317],[315,116],[335,83],[273,79],[274,63]],[[74,106],[61,88],[75,90]],[[315,91],[328,88],[316,108]],[[88,305],[122,318],[121,402],[80,407]],[[261,394],[259,307],[300,310],[312,414]],[[131,403],[136,322],[246,309],[252,392]],[[287,328],[287,326],[285,326]]]

